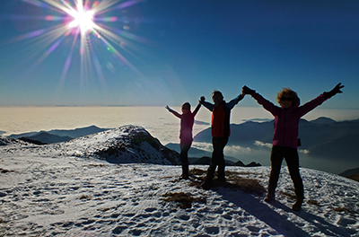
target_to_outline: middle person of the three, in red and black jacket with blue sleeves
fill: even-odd
[[[223,101],[222,92],[215,91],[212,94],[212,100],[215,102],[215,104],[206,102],[206,98],[204,96],[202,96],[200,99],[200,103],[202,103],[202,105],[204,105],[208,110],[212,111],[211,131],[212,145],[214,149],[211,162],[207,170],[206,180],[202,183],[203,189],[209,189],[211,187],[217,165],[218,180],[225,182],[225,162],[223,149],[224,146],[227,145],[228,138],[231,135],[231,110],[239,101],[243,99],[243,97],[244,94],[241,94],[227,103],[226,101]]]

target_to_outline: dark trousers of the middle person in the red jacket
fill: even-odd
[[[225,162],[224,162],[224,154],[223,149],[224,146],[228,143],[228,136],[224,137],[212,137],[212,145],[213,145],[213,153],[212,153],[212,159],[211,163],[209,164],[208,170],[207,170],[207,181],[212,181],[215,176],[215,168],[218,165],[218,180],[225,180],[224,177],[224,168],[225,168]]]

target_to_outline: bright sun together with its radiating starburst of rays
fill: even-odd
[[[102,68],[110,68],[109,71],[113,72],[114,66],[111,62],[103,62],[99,58],[99,55],[103,54],[110,54],[110,58],[115,58],[120,65],[140,74],[124,56],[124,53],[128,54],[130,50],[124,46],[133,47],[134,42],[143,44],[145,40],[125,32],[131,28],[128,26],[128,18],[124,15],[127,11],[124,9],[142,1],[144,0],[22,0],[23,4],[43,9],[46,14],[39,16],[39,21],[42,20],[46,26],[50,24],[50,27],[26,32],[14,40],[31,39],[31,42],[39,44],[42,49],[38,51],[42,55],[35,62],[38,65],[51,54],[59,52],[58,48],[61,47],[62,53],[64,47],[67,48],[61,81],[66,79],[73,64],[77,68],[74,62],[76,50],[81,61],[81,78],[86,78],[89,71],[94,70],[99,80],[105,81]],[[19,19],[21,17],[23,18],[19,16]],[[115,28],[111,28],[113,25]]]

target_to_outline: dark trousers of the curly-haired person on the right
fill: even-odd
[[[304,198],[304,188],[301,174],[299,173],[298,151],[292,147],[274,145],[270,154],[271,171],[269,176],[268,190],[274,192],[279,179],[283,159],[285,159],[289,174],[294,185],[297,198]]]

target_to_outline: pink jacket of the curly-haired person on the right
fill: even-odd
[[[261,104],[265,110],[268,110],[274,117],[275,132],[273,135],[273,145],[289,146],[297,148],[298,124],[302,116],[313,110],[328,98],[323,94],[311,100],[302,106],[299,106],[299,98],[295,104],[289,109],[274,105],[271,101],[267,101],[260,94],[254,93],[253,98]]]

